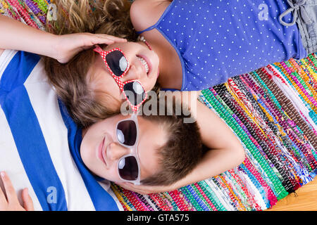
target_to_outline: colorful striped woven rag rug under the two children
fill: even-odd
[[[44,29],[49,0],[0,0],[0,13]],[[240,139],[244,162],[175,191],[140,195],[112,185],[125,210],[266,210],[317,173],[317,55],[273,63],[201,91]],[[212,129],[212,128],[211,128]]]

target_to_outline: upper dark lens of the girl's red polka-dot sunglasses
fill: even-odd
[[[117,77],[120,77],[128,68],[128,61],[120,51],[112,51],[106,56],[109,68]]]

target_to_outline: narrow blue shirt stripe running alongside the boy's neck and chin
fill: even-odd
[[[65,105],[58,101],[59,108],[61,110],[61,115],[63,117],[64,123],[68,129],[68,146],[70,148],[70,153],[73,156],[73,160],[77,165],[80,174],[82,175],[82,179],[85,182],[85,186],[87,187],[87,191],[92,199],[92,203],[97,211],[118,211],[118,206],[109,195],[109,193],[101,187],[101,185],[97,182],[95,176],[93,176],[87,167],[85,167],[84,162],[82,162],[82,158],[80,156],[80,144],[82,142],[82,129],[77,127],[75,122],[70,118],[68,112],[66,110]]]

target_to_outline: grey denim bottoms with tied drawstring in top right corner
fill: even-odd
[[[290,5],[279,17],[282,25],[291,26],[297,23],[302,37],[302,44],[308,54],[317,52],[317,0],[287,0]],[[293,21],[285,23],[282,18],[293,14]]]

